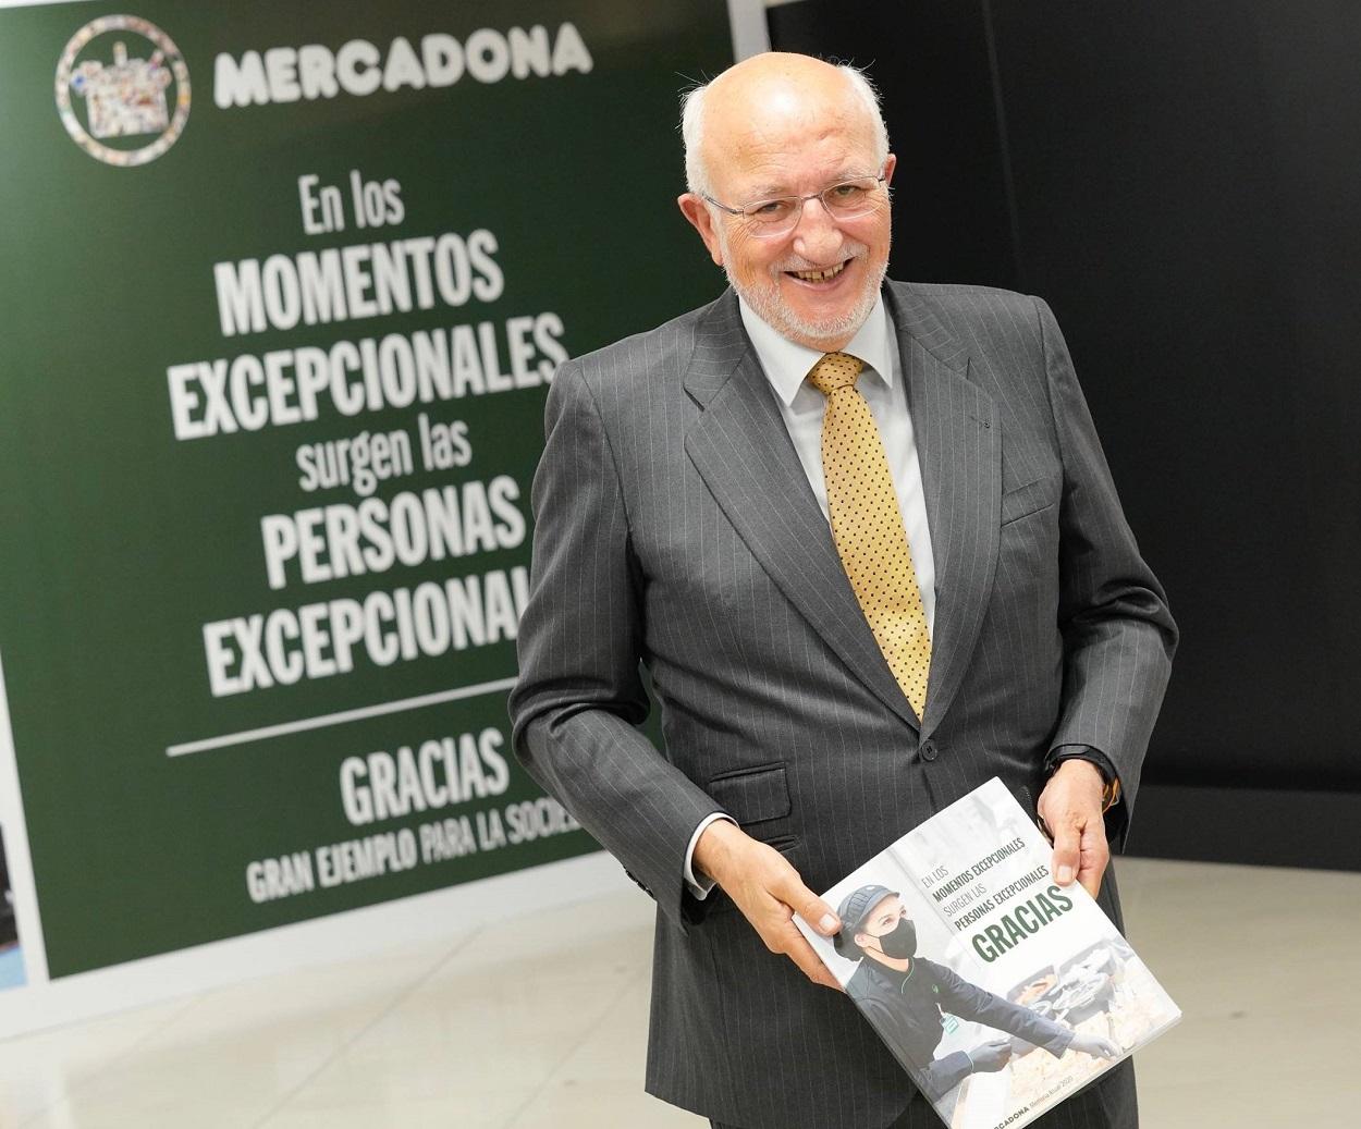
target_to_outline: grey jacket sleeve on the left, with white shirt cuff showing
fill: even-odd
[[[680,928],[695,826],[721,811],[638,729],[642,577],[625,494],[578,362],[554,378],[534,480],[529,603],[510,694],[516,755]]]

